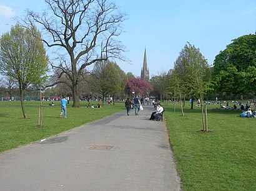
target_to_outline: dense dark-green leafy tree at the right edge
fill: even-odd
[[[256,34],[232,40],[214,60],[213,79],[219,93],[248,95],[256,92]]]

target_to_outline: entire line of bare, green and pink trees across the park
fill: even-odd
[[[115,4],[107,0],[45,2],[46,12],[27,11],[0,39],[0,70],[18,86],[24,118],[24,90],[31,86],[40,92],[59,90],[61,95],[72,96],[73,107],[79,107],[81,96],[89,94],[103,100],[106,95],[124,97],[135,91],[148,96],[152,91],[160,100],[187,97],[202,101],[206,93],[255,93],[255,34],[233,40],[215,57],[213,67],[199,49],[187,43],[174,69],[152,77],[151,88],[111,61],[127,60],[122,56],[125,47],[117,40],[126,15]],[[51,58],[44,45],[52,50]],[[94,69],[88,71],[92,64]],[[51,77],[48,65],[54,72]]]

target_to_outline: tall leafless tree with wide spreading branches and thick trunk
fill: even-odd
[[[125,15],[107,0],[45,0],[49,9],[41,15],[27,11],[26,24],[42,27],[42,41],[57,55],[51,65],[58,68],[59,80],[71,88],[73,107],[79,107],[79,83],[84,69],[95,62],[122,57],[122,33]],[[51,14],[49,14],[51,12]],[[57,63],[56,63],[57,62]],[[69,82],[62,81],[66,74]]]

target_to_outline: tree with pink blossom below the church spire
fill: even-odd
[[[148,95],[153,91],[152,86],[143,78],[129,78],[124,91],[130,95],[133,91],[137,95]]]

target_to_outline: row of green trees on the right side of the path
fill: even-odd
[[[193,62],[198,66],[191,65]],[[160,100],[171,98],[174,84],[177,84],[174,76],[177,76],[182,82],[185,96],[199,98],[195,91],[199,90],[195,85],[195,82],[200,82],[197,75],[208,87],[204,93],[207,97],[220,95],[243,100],[244,96],[251,95],[253,99],[256,93],[256,34],[232,40],[225,50],[216,55],[213,66],[208,65],[199,49],[188,43],[175,61],[174,69],[151,78],[154,95]]]

